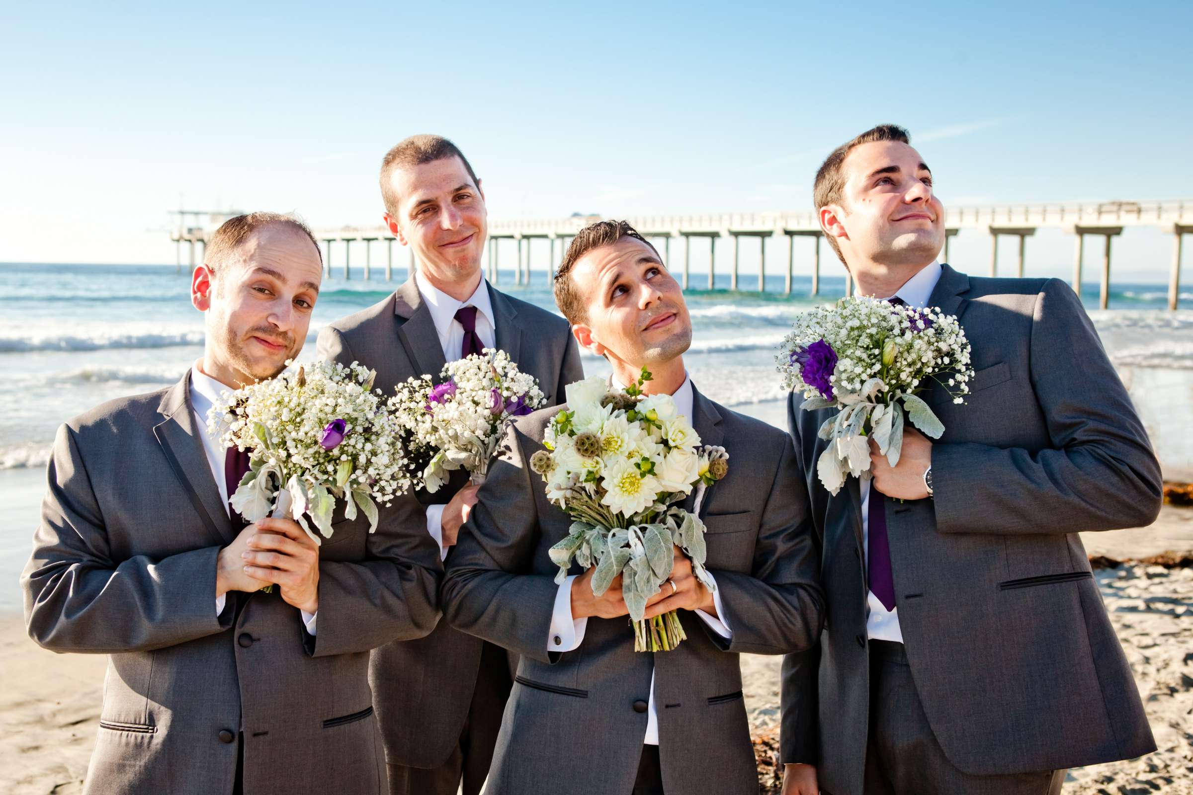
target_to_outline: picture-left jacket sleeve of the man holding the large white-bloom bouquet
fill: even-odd
[[[447,558],[444,617],[453,627],[544,663],[558,585],[531,573],[539,538],[536,489],[523,449],[525,436],[511,424],[500,454],[477,492],[477,502]]]

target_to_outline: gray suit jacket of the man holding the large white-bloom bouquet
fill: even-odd
[[[558,589],[548,549],[571,520],[546,502],[526,462],[557,411],[511,428],[447,560],[444,617],[521,654],[486,791],[629,793],[647,731],[635,704],[647,706],[654,672],[666,790],[756,793],[737,654],[808,648],[823,607],[818,542],[790,440],[694,393],[697,433],[729,452],[729,474],[709,490],[701,517],[730,640],[681,610],[687,640],[670,652],[636,653],[628,619],[592,617],[579,648],[548,654]]]

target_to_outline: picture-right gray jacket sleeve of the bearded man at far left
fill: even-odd
[[[410,495],[381,509],[363,561],[319,564],[319,633],[313,657],[348,654],[431,634],[439,622],[439,545]]]

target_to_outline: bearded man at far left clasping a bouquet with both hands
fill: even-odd
[[[369,650],[435,625],[435,546],[400,507],[322,546],[246,527],[228,496],[248,456],[205,427],[222,390],[302,349],[321,272],[292,218],[228,221],[193,274],[203,358],[58,428],[21,586],[33,640],[110,656],[86,793],[383,791]]]

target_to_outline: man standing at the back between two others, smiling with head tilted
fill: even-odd
[[[382,161],[381,188],[385,223],[413,248],[419,271],[385,300],[326,327],[319,335],[324,359],[365,362],[377,371],[377,387],[391,392],[410,377],[438,378],[446,361],[500,348],[538,379],[548,405],[583,378],[562,318],[481,277],[484,193],[459,149],[439,136],[407,138]],[[444,557],[476,502],[476,486],[466,484],[459,471],[435,493],[419,495],[422,507],[407,499]],[[512,664],[505,650],[445,623],[373,653],[373,704],[391,793],[455,795],[462,780],[465,795],[481,790]]]

